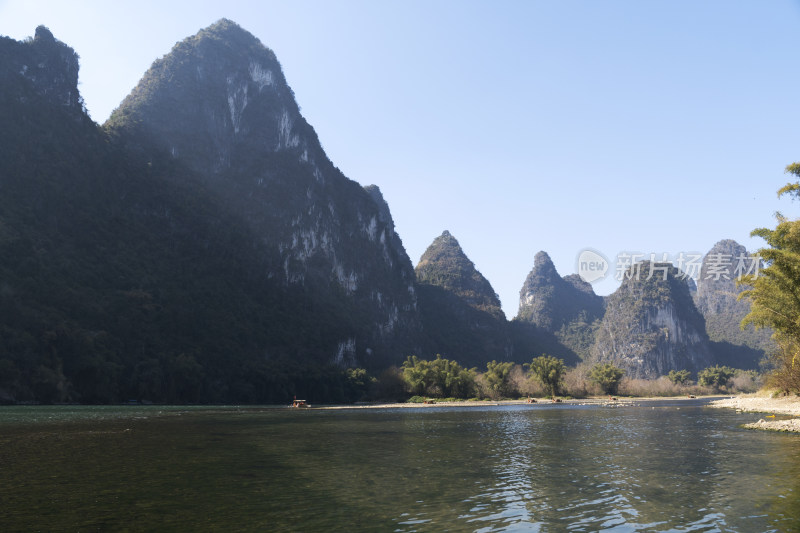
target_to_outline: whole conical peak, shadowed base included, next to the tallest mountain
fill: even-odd
[[[512,359],[500,299],[450,232],[422,254],[416,273],[426,356],[441,353],[467,366]]]

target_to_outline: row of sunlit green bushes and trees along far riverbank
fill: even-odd
[[[730,395],[754,392],[763,384],[762,375],[755,371],[719,365],[696,376],[681,370],[656,379],[636,379],[627,377],[624,370],[611,363],[568,367],[563,360],[549,355],[535,357],[522,365],[490,361],[482,370],[466,368],[441,355],[431,360],[410,356],[400,367],[389,368],[377,377],[363,369],[350,369],[347,375],[353,402],[410,404],[617,395],[638,398]]]

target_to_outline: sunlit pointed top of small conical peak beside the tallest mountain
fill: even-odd
[[[489,280],[478,272],[449,231],[445,230],[425,250],[416,273],[420,283],[442,287],[475,309],[505,318],[500,298]]]

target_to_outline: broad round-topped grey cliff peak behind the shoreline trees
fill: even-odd
[[[712,354],[705,323],[683,274],[669,263],[632,266],[606,300],[591,356],[610,361],[635,378],[656,378],[670,370],[697,372],[709,366]]]

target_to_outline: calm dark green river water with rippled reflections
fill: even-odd
[[[800,436],[703,401],[0,408],[0,531],[798,531]]]

